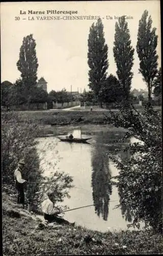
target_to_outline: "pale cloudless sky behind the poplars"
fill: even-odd
[[[88,35],[90,26],[97,22],[95,16],[101,17],[104,26],[105,42],[108,46],[107,74],[116,75],[117,68],[113,55],[115,24],[118,20],[116,17],[122,15],[128,17],[126,21],[131,45],[135,49],[139,20],[144,10],[148,10],[153,21],[152,27],[157,29],[158,67],[160,67],[160,2],[158,0],[1,3],[1,79],[14,83],[20,77],[16,62],[19,59],[22,40],[24,36],[33,34],[39,64],[38,79],[44,77],[47,81],[47,91],[59,91],[63,88],[70,91],[71,86],[72,91],[83,92],[84,89],[88,91]],[[20,11],[26,14],[20,14]],[[45,13],[35,14],[36,11]],[[55,11],[69,13],[55,14]],[[70,11],[77,13],[70,14]],[[52,20],[47,20],[47,16]],[[70,16],[88,16],[89,19],[70,20]],[[46,20],[40,20],[41,17],[45,17]],[[53,20],[53,17],[60,18]],[[134,75],[131,89],[146,89],[142,75],[139,74],[136,49],[132,72]]]

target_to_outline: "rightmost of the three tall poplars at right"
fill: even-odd
[[[148,18],[148,11],[145,10],[139,20],[137,53],[140,59],[140,73],[148,87],[148,103],[151,105],[151,92],[154,78],[157,74],[157,35],[156,28],[151,28],[152,19]]]

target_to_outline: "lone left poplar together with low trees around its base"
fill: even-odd
[[[65,89],[59,92],[51,91],[49,94],[42,88],[37,87],[38,59],[36,56],[36,41],[30,34],[23,38],[20,47],[17,69],[20,78],[14,84],[9,81],[1,83],[2,105],[42,103],[57,101],[59,103],[70,102],[74,97]]]

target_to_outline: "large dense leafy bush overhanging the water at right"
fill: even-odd
[[[146,227],[162,228],[162,158],[161,115],[152,108],[142,114],[121,106],[111,113],[115,126],[127,129],[125,139],[134,137],[138,142],[126,147],[130,158],[126,163],[113,158],[119,169],[117,176],[121,208],[128,209],[134,222],[144,221]]]

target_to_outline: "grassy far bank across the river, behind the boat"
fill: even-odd
[[[24,111],[17,113],[17,122],[23,125],[26,122],[36,124],[37,136],[54,135],[59,127],[83,126],[87,124],[101,125],[108,124],[109,121],[105,115],[109,116],[109,112],[105,111]],[[11,123],[12,125],[12,123]]]

